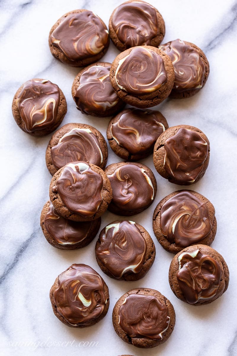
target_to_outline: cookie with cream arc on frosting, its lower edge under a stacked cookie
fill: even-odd
[[[49,141],[45,160],[52,176],[70,162],[85,161],[104,169],[108,158],[107,143],[95,127],[66,124]]]

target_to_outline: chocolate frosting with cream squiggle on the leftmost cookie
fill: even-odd
[[[16,99],[17,109],[27,132],[45,129],[58,114],[59,87],[49,80],[31,79],[23,84]]]

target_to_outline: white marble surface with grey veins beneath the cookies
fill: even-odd
[[[28,79],[49,79],[59,85],[68,102],[62,125],[86,122],[105,135],[108,119],[87,117],[76,109],[71,85],[79,69],[66,67],[51,56],[48,33],[61,15],[76,8],[94,11],[108,25],[113,9],[122,2],[0,1],[1,355],[237,355],[235,1],[170,0],[158,4],[150,0],[165,19],[164,42],[175,38],[193,42],[203,49],[210,62],[210,76],[200,93],[180,101],[168,99],[158,108],[169,126],[194,125],[209,137],[210,164],[205,176],[192,188],[215,206],[218,229],[212,247],[223,255],[230,268],[227,292],[214,303],[200,307],[187,305],[172,293],[168,268],[173,256],[156,241],[152,214],[158,201],[179,187],[158,175],[151,157],[142,162],[155,173],[158,193],[150,208],[133,218],[150,232],[156,245],[155,263],[145,278],[130,283],[114,281],[96,263],[96,239],[82,250],[59,251],[48,244],[39,226],[51,179],[44,159],[50,135],[34,138],[17,127],[11,113],[13,96]],[[111,43],[103,60],[112,62],[118,53]],[[108,164],[118,161],[109,148]],[[101,228],[115,219],[117,216],[112,213],[104,214]],[[49,289],[56,276],[71,263],[91,265],[109,286],[109,312],[91,328],[68,328],[52,312]],[[171,300],[176,311],[173,334],[154,349],[141,350],[125,344],[113,330],[111,316],[116,300],[135,287],[158,289]]]

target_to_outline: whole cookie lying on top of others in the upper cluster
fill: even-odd
[[[150,108],[170,94],[174,68],[169,56],[160,49],[132,47],[114,59],[110,79],[119,98],[136,108]]]

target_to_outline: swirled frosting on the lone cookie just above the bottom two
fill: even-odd
[[[145,254],[146,242],[133,221],[107,225],[99,234],[96,257],[115,278],[139,273]]]

